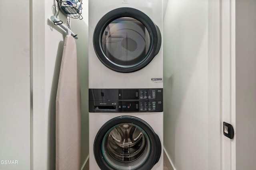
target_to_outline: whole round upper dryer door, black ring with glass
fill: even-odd
[[[143,12],[117,8],[103,16],[95,27],[96,55],[108,68],[134,72],[144,68],[158,54],[161,33]]]

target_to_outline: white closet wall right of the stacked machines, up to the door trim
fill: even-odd
[[[176,170],[208,170],[208,1],[168,0],[163,37],[164,148]]]

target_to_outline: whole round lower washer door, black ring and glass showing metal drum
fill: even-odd
[[[102,170],[150,170],[160,155],[158,135],[138,117],[109,120],[94,140],[94,156]]]

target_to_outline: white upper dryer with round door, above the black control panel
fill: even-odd
[[[162,0],[89,0],[89,88],[162,88]]]

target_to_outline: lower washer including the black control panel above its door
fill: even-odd
[[[163,169],[163,91],[89,89],[90,170]]]

